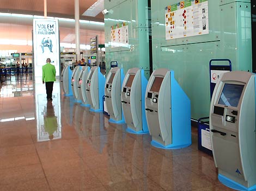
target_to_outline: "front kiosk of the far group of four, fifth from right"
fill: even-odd
[[[100,72],[100,67],[94,66],[90,69],[86,81],[86,91],[88,95],[88,103],[90,104],[90,111],[103,111],[105,81],[105,77]]]

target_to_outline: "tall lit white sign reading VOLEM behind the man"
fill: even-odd
[[[42,76],[42,66],[50,58],[59,76],[59,24],[58,20],[33,20],[33,46],[35,77]]]

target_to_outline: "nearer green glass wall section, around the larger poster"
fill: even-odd
[[[151,1],[153,69],[174,71],[191,100],[191,117],[198,119],[209,116],[211,59],[230,59],[233,70],[252,71],[251,8],[246,1],[209,0],[209,34],[166,40],[164,9],[178,2]]]

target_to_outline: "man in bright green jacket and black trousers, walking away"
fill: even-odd
[[[55,66],[51,65],[51,59],[46,59],[46,65],[42,66],[42,84],[45,84],[47,100],[52,101],[53,82],[56,81]]]

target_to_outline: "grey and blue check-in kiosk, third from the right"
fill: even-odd
[[[121,103],[123,106],[127,132],[148,133],[148,124],[145,114],[145,92],[148,80],[144,70],[131,68],[127,71],[122,86]]]

